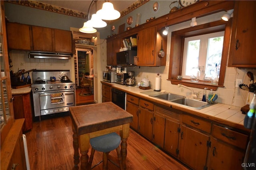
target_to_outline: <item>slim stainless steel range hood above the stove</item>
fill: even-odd
[[[28,53],[28,58],[35,59],[71,59],[72,54],[70,53],[48,53],[40,51],[30,51]]]

